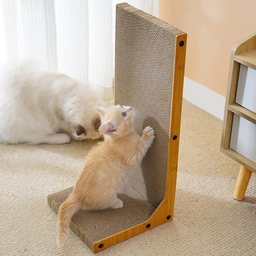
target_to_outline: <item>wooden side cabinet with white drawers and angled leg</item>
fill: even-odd
[[[241,201],[256,172],[256,32],[231,52],[220,150],[241,164],[233,195]]]

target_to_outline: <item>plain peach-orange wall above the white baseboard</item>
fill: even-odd
[[[256,0],[159,0],[159,18],[188,34],[185,76],[225,96],[232,47],[256,30]]]

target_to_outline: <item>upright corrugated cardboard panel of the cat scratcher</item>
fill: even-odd
[[[138,110],[135,132],[155,129],[153,145],[132,175],[132,187],[155,207],[164,199],[175,38],[182,33],[129,4],[117,5],[115,101]]]

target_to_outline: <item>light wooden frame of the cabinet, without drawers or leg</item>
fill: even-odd
[[[248,61],[244,61],[246,52],[248,52],[247,60],[252,60],[252,54],[256,48],[256,32],[247,36],[242,41],[237,43],[231,52],[229,77],[228,77],[228,89],[225,105],[225,116],[221,137],[220,151],[236,160],[239,164],[245,166],[252,172],[256,172],[256,163],[240,155],[236,151],[230,148],[231,131],[233,125],[234,113],[238,116],[242,116],[248,121],[256,124],[256,114],[252,111],[238,105],[236,101],[236,91],[238,84],[238,76],[240,71],[240,64],[244,64],[248,67],[254,68],[254,65],[248,65]],[[243,58],[241,58],[243,56]]]

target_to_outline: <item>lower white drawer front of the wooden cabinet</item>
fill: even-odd
[[[230,148],[256,163],[256,125],[234,114]]]

